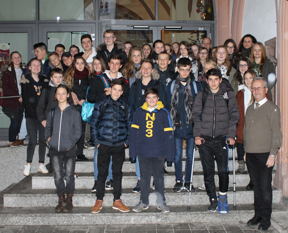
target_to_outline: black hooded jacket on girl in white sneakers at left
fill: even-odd
[[[42,83],[41,90],[43,90],[49,84],[49,80],[45,76],[38,75],[39,81]],[[32,83],[31,74],[26,76],[22,75],[20,84],[22,91],[22,99],[24,103],[25,118],[32,118],[37,120],[37,105],[38,105],[38,96],[35,91],[34,85]]]

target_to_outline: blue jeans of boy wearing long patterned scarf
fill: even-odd
[[[193,146],[194,138],[186,139],[186,166],[185,166],[185,183],[190,182],[191,178],[191,168],[193,160]],[[183,156],[183,139],[174,138],[175,143],[175,158],[174,158],[174,167],[175,167],[175,177],[176,182],[183,182],[183,173],[182,173],[182,156]]]

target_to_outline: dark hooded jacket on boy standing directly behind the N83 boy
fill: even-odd
[[[135,82],[131,85],[129,91],[129,98],[128,102],[131,106],[131,111],[134,114],[135,110],[142,106],[145,103],[145,98],[143,98],[144,93],[141,91],[141,82],[142,82],[142,75],[140,71],[137,71],[135,74]],[[161,101],[165,108],[167,108],[167,97],[165,93],[165,87],[160,80],[160,75],[157,70],[151,75],[152,80],[149,82],[149,87],[154,87],[159,91],[159,101]]]

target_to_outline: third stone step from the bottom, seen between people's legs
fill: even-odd
[[[274,177],[273,172],[273,177]],[[217,172],[215,172],[217,174]],[[169,176],[164,176],[165,188],[172,188],[175,185],[174,172],[170,172]],[[196,171],[193,176],[193,185],[199,187],[204,184],[203,172]],[[151,179],[152,180],[152,179]],[[248,185],[250,178],[247,171],[243,174],[235,175],[236,186],[243,187]],[[218,187],[218,177],[215,176],[215,184]],[[152,181],[151,181],[152,182]],[[134,172],[123,172],[122,178],[122,188],[134,188],[137,183],[136,176]],[[229,174],[229,184],[233,185],[233,172],[230,171]],[[78,173],[78,178],[75,178],[75,189],[91,189],[94,185],[94,175],[93,173]],[[40,172],[35,173],[32,176],[32,189],[55,189],[54,177],[52,173],[42,174]]]

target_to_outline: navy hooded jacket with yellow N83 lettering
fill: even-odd
[[[161,101],[152,112],[145,102],[134,114],[130,142],[129,157],[166,157],[167,161],[174,161],[173,128],[169,112]]]

